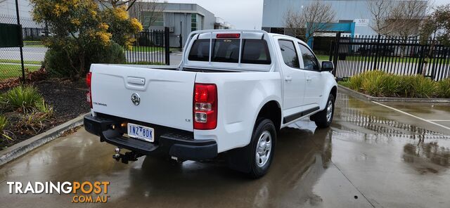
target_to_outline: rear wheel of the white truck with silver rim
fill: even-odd
[[[229,167],[251,178],[264,176],[274,159],[276,129],[270,119],[257,119],[250,144],[229,152]]]

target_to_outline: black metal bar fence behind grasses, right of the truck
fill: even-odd
[[[450,77],[450,47],[418,37],[336,37],[330,48],[338,79],[369,70],[392,74],[422,74],[436,81]]]

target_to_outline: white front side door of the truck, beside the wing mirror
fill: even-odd
[[[319,107],[321,98],[323,96],[322,73],[314,53],[304,44],[298,43],[300,53],[302,54],[302,61],[300,65],[305,73],[305,91],[304,91],[304,110],[311,110]]]

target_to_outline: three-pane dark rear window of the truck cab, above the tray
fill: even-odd
[[[240,39],[212,39],[212,62],[271,64],[269,48],[264,39],[243,39],[240,53]],[[209,61],[210,39],[194,41],[188,60]]]

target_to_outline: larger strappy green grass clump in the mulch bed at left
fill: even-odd
[[[7,91],[0,100],[9,110],[18,110],[20,112],[30,112],[34,110],[39,103],[44,102],[41,94],[32,86],[16,86]]]

